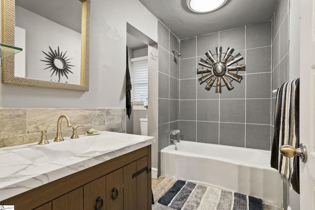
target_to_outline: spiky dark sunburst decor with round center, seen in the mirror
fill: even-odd
[[[52,77],[53,74],[55,73],[56,76],[58,75],[59,81],[60,81],[61,76],[65,76],[68,79],[67,74],[69,73],[73,74],[73,72],[70,70],[71,69],[70,66],[74,66],[74,65],[70,65],[69,63],[71,62],[68,61],[68,60],[71,60],[72,58],[67,59],[68,56],[65,56],[67,51],[63,54],[63,52],[59,51],[59,46],[58,46],[58,51],[56,50],[53,51],[50,46],[49,46],[49,50],[50,52],[48,52],[48,54],[42,51],[47,56],[45,57],[45,59],[47,60],[41,60],[41,61],[47,62],[46,65],[49,65],[47,68],[44,68],[43,70],[49,69],[49,68],[50,68],[49,71],[53,70],[53,73],[50,75],[50,77]]]

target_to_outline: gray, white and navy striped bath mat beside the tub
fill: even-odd
[[[263,210],[261,199],[183,180],[177,180],[158,203],[176,210]]]

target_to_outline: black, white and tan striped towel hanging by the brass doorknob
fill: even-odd
[[[284,83],[277,92],[274,139],[271,149],[271,167],[279,170],[284,182],[300,193],[299,159],[284,157],[282,145],[299,147],[299,82],[300,79]]]

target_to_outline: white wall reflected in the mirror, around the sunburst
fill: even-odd
[[[65,76],[60,77],[60,81],[69,84],[80,85],[81,81],[81,33],[68,29],[60,24],[50,21],[20,6],[15,7],[15,25],[26,30],[26,49],[22,52],[26,53],[26,77],[59,82],[59,75],[54,71],[50,71],[47,57],[43,52],[49,54],[49,47],[53,51],[61,53],[67,57],[70,62],[70,71]],[[38,30],[41,29],[41,30]],[[61,41],[62,40],[62,41]],[[43,52],[42,52],[43,51]],[[65,54],[64,54],[65,53]],[[64,58],[64,57],[63,57]],[[17,70],[17,66],[15,66]],[[52,74],[54,73],[54,74]]]

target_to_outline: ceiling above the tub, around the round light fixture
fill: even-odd
[[[216,11],[195,13],[187,0],[139,0],[179,39],[265,22],[278,0],[227,0]]]

